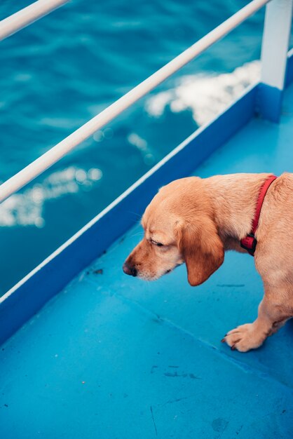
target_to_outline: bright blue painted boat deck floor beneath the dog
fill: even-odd
[[[293,88],[279,126],[254,120],[196,170],[293,171]],[[257,351],[221,344],[254,320],[261,279],[227,253],[204,285],[185,266],[159,281],[125,276],[137,226],[0,351],[3,439],[292,438],[293,324]]]

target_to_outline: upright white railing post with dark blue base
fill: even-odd
[[[266,5],[257,113],[273,122],[278,122],[281,114],[292,4],[293,0],[272,0]]]

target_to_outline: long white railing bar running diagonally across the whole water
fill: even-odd
[[[36,4],[39,4],[39,2],[43,1],[44,0],[36,1]],[[86,140],[88,137],[90,137],[90,135],[93,135],[95,131],[109,123],[109,121],[113,120],[116,116],[118,116],[118,114],[121,114],[125,109],[137,102],[137,100],[139,100],[142,96],[149,93],[150,90],[153,90],[156,86],[158,86],[158,84],[163,82],[173,73],[177,72],[177,70],[181,69],[184,65],[186,65],[186,63],[196,58],[198,55],[200,55],[200,53],[203,53],[203,51],[210,47],[213,43],[219,41],[219,39],[222,39],[222,37],[226,34],[229,34],[229,32],[238,27],[240,23],[245,21],[255,12],[259,11],[259,9],[266,5],[268,1],[270,0],[253,0],[250,4],[247,4],[247,6],[238,11],[231,18],[213,29],[212,32],[194,43],[193,46],[184,50],[184,52],[182,52],[172,61],[168,62],[168,64],[166,64],[164,67],[149,76],[149,78],[142,81],[142,83],[139,83],[139,85],[135,88],[132,88],[132,90],[123,95],[120,99],[116,100],[116,102],[104,109],[100,114],[97,114],[97,116],[93,117],[93,119],[90,119],[90,121],[78,128],[76,131],[74,131],[74,133],[71,133],[71,135],[66,137],[60,143],[56,144],[55,147],[51,148],[45,154],[30,163],[29,166],[23,168],[19,173],[15,174],[9,180],[1,184],[0,202],[4,201],[6,198],[8,198],[8,196],[11,196],[11,194],[24,187],[30,181],[34,180],[35,177],[43,173],[44,170],[50,168],[50,166],[53,166],[54,163],[59,161],[60,158],[65,156],[67,153],[69,153],[69,151],[74,149],[74,147],[83,142],[83,140]],[[290,4],[292,11],[292,0],[271,1],[273,3],[278,1],[282,4]],[[55,1],[55,3],[57,3],[57,1]],[[9,18],[6,18],[6,20],[9,20]],[[4,20],[4,22],[6,20]],[[1,23],[2,22],[0,22],[0,34],[2,29]],[[20,25],[20,28],[21,27],[23,26]],[[16,32],[16,30],[18,29],[14,27],[14,32]]]

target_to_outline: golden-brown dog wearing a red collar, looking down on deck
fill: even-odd
[[[160,189],[142,217],[144,238],[123,265],[125,273],[157,279],[186,263],[191,285],[200,285],[224,262],[225,250],[246,252],[259,190],[269,174],[216,175],[175,180]],[[259,347],[293,316],[293,174],[269,187],[257,227],[255,266],[264,299],[254,323],[238,326],[222,341],[232,349]]]

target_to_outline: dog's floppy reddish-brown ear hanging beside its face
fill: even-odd
[[[178,247],[186,263],[190,285],[203,283],[224,261],[224,245],[209,217],[178,224]]]

